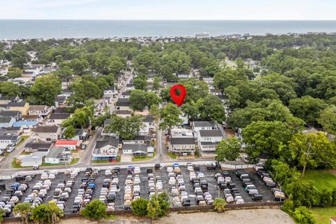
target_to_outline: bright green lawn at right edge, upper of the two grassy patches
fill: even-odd
[[[331,190],[336,186],[336,174],[332,174],[332,170],[309,170],[305,172],[304,179],[313,181],[318,190]]]

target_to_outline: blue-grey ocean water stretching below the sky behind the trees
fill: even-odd
[[[3,38],[107,38],[336,32],[333,21],[297,20],[0,20]]]

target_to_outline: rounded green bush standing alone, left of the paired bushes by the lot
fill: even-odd
[[[85,218],[99,220],[106,218],[106,205],[99,200],[92,200],[85,206],[85,209],[80,212]]]

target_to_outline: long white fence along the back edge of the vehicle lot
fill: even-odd
[[[193,164],[197,163],[198,165],[206,165],[209,162],[215,162],[215,161],[190,161]],[[174,163],[177,163],[181,166],[186,166],[188,162],[162,162],[160,163],[161,167],[167,167],[167,166],[172,166]],[[132,165],[132,164],[130,164]],[[98,167],[98,166],[92,166],[92,167],[97,167],[101,170],[104,169],[113,169],[114,167],[120,167],[120,169],[126,169],[127,167],[129,167],[130,165],[111,165],[111,166],[102,166],[102,167]],[[148,164],[137,164],[135,166],[137,167],[153,167],[155,165],[155,163],[148,163]],[[255,167],[255,165],[230,165],[230,164],[225,164],[223,162],[221,162],[221,167],[222,169],[248,169],[248,168],[253,168]],[[81,172],[85,171],[86,167],[79,167],[79,168],[68,168],[68,171],[71,171],[73,169],[79,170]],[[0,180],[10,180],[10,179],[14,179],[15,176],[18,175],[27,175],[27,174],[42,174],[45,170],[52,170],[52,167],[50,167],[50,169],[40,169],[40,170],[34,170],[34,171],[22,171],[22,172],[15,172],[13,174],[10,175],[3,175],[0,176]],[[66,169],[57,169],[57,172],[62,173],[62,172],[66,172]]]

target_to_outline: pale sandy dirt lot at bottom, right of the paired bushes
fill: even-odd
[[[232,210],[218,214],[216,212],[195,214],[170,214],[169,217],[160,219],[154,223],[178,224],[178,223],[207,223],[207,224],[283,224],[295,222],[280,209],[250,209]]]

